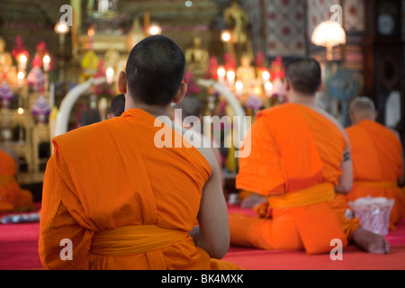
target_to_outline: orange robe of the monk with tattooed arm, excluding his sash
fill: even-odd
[[[269,197],[256,207],[259,217],[229,215],[230,240],[234,245],[265,249],[305,249],[327,253],[330,241],[344,246],[358,228],[346,218],[347,204],[334,194],[342,174],[340,164],[347,141],[341,130],[310,108],[287,103],[259,112],[244,146],[251,154],[239,158],[237,188]],[[285,193],[320,193],[316,187],[330,184],[333,193],[323,202],[295,202],[294,207],[272,207],[272,197]]]

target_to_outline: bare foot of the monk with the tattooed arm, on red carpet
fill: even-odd
[[[390,253],[390,244],[383,236],[359,227],[353,233],[353,242],[357,247],[372,254]]]

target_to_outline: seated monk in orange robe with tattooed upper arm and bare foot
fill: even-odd
[[[244,141],[250,155],[239,158],[237,188],[261,198],[258,217],[229,215],[232,245],[262,249],[305,249],[329,253],[331,241],[352,241],[375,254],[388,253],[383,237],[347,219],[353,183],[350,143],[342,126],[316,107],[320,64],[294,59],[285,68],[290,103],[261,111]],[[332,242],[333,243],[333,242]]]

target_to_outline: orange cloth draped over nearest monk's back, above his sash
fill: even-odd
[[[73,180],[80,184],[77,193],[79,197],[83,193],[88,216],[99,228],[139,224],[193,228],[190,216],[197,215],[209,164],[194,148],[157,148],[154,136],[160,128],[153,122],[152,116],[138,110],[56,139],[60,154],[69,153],[64,158],[68,167],[74,167]],[[92,173],[81,174],[85,170]],[[91,201],[106,205],[90,205]],[[114,214],[122,209],[132,211],[132,216]]]

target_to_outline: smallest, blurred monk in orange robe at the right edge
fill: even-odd
[[[405,215],[403,151],[401,139],[394,130],[375,121],[374,103],[367,97],[356,97],[350,104],[352,126],[347,135],[352,148],[353,189],[347,201],[372,196],[394,200],[390,229]]]

